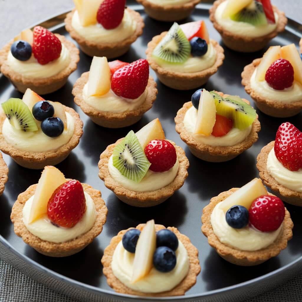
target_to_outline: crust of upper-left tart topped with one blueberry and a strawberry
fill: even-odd
[[[13,40],[7,43],[0,50],[0,70],[8,79],[11,80],[12,84],[16,87],[18,91],[24,93],[27,88],[30,88],[38,95],[44,95],[47,93],[54,92],[59,88],[63,87],[66,84],[69,75],[76,70],[77,63],[80,60],[78,48],[71,41],[67,40],[64,36],[60,34],[55,35],[59,38],[61,43],[63,43],[64,46],[69,50],[70,63],[58,74],[50,78],[27,78],[11,69],[11,67],[7,63],[7,56],[8,52],[11,49],[11,44],[13,43]]]

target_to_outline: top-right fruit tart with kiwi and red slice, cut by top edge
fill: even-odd
[[[232,50],[250,53],[284,31],[287,18],[270,0],[217,0],[210,21]]]

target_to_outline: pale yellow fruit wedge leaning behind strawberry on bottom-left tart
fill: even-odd
[[[64,182],[66,182],[66,178],[59,169],[53,166],[46,166],[44,168],[31,204],[28,223],[32,223],[42,215],[47,214],[47,204],[50,197],[56,188]]]

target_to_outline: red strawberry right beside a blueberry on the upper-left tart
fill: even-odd
[[[59,58],[62,50],[62,43],[58,37],[46,28],[35,26],[32,50],[38,63],[45,65]]]

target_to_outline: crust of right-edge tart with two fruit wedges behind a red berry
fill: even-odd
[[[256,106],[263,113],[273,117],[291,117],[298,114],[302,109],[302,99],[300,101],[284,104],[275,100],[267,99],[255,92],[251,87],[251,77],[255,69],[261,62],[261,58],[253,60],[246,65],[241,73],[242,85],[246,93],[254,100]]]

